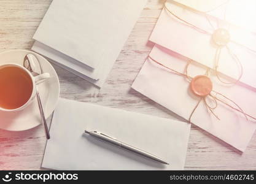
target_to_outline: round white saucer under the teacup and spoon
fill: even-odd
[[[41,63],[42,71],[49,73],[51,76],[50,79],[38,85],[45,118],[48,118],[58,102],[60,96],[60,82],[55,69],[47,59],[29,50],[9,50],[0,53],[0,64],[16,63],[23,65],[23,59],[28,53],[34,54]],[[33,99],[33,102],[31,102],[26,109],[18,112],[0,111],[1,129],[6,129],[8,131],[25,131],[41,125],[41,123],[41,115],[36,98]]]

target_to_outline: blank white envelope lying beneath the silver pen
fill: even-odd
[[[84,130],[99,131],[162,159],[157,163],[107,144]],[[57,170],[184,169],[190,124],[94,104],[60,99],[42,167]]]

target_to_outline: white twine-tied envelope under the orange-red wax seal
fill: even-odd
[[[159,45],[155,45],[150,56],[181,73],[184,73],[188,61],[188,58]],[[190,77],[203,75],[205,72],[206,67],[196,62],[192,62],[188,67]],[[223,86],[215,75],[210,76],[215,91],[232,99],[244,112],[256,117],[256,93],[254,91],[242,85]],[[132,88],[187,120],[200,99],[190,92],[190,83],[185,77],[170,72],[150,59],[145,61]],[[208,101],[211,102],[211,99]],[[191,122],[238,150],[244,151],[254,135],[256,121],[250,118],[247,121],[242,113],[236,112],[222,102],[218,102],[214,113],[220,120],[208,112],[206,105],[201,102]]]

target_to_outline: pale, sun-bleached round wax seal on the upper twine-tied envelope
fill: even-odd
[[[212,34],[212,40],[219,46],[225,46],[230,42],[230,33],[227,29],[216,29]]]

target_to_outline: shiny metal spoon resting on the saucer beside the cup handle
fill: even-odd
[[[42,74],[42,67],[41,67],[39,61],[37,60],[36,56],[34,56],[33,54],[28,54],[25,56],[23,66],[26,69],[28,69],[28,71],[31,72],[31,74],[33,76]],[[39,71],[36,71],[36,66],[39,66]],[[38,107],[39,107],[41,118],[42,118],[43,125],[44,125],[45,135],[46,135],[47,139],[50,139],[50,133],[49,133],[49,129],[48,129],[48,126],[47,126],[47,123],[45,120],[44,109],[42,108],[42,102],[41,102],[41,98],[39,96],[39,90],[37,88],[37,85],[36,85],[36,97],[37,97],[37,103],[38,103]]]

